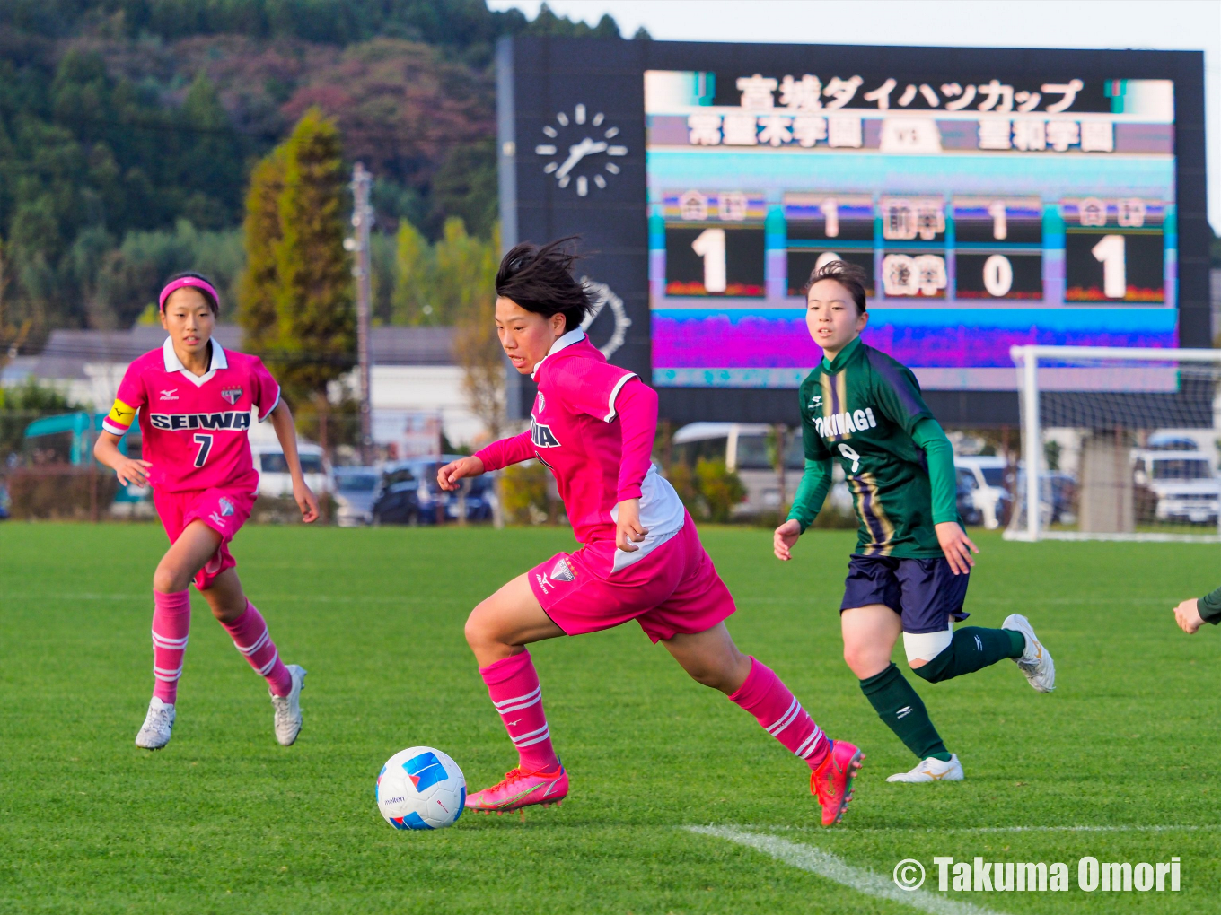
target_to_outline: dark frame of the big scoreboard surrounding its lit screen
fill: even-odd
[[[1061,50],[1007,48],[888,48],[868,45],[729,44],[708,41],[505,38],[497,46],[497,139],[502,239],[580,235],[584,273],[623,300],[623,345],[610,361],[650,381],[648,195],[645,167],[645,71],[718,74],[886,71],[1021,79],[1172,79],[1175,83],[1175,189],[1178,229],[1178,337],[1182,346],[1209,346],[1209,243],[1206,216],[1203,51]],[[558,111],[578,102],[604,112],[626,152],[606,189],[580,198],[545,174],[534,144]],[[602,316],[598,322],[602,322]],[[597,337],[597,326],[591,328]],[[508,411],[525,418],[535,388],[508,364]],[[1018,423],[1011,390],[929,390],[929,406],[947,426]],[[661,415],[675,423],[708,421],[797,425],[795,390],[775,388],[658,388]]]

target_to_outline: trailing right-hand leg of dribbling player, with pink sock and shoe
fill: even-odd
[[[737,649],[725,623],[679,633],[662,644],[694,680],[725,693],[806,761],[810,789],[823,808],[823,826],[839,822],[852,799],[852,780],[864,758],[861,750],[846,741],[830,741],[770,669]]]

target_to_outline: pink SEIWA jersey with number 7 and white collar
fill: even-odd
[[[165,492],[232,487],[255,492],[250,410],[265,420],[280,403],[280,386],[256,356],[226,353],[214,339],[208,373],[183,368],[166,339],[127,368],[106,432],[122,436],[137,412],[149,482]]]

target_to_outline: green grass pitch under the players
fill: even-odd
[[[245,529],[247,590],[310,671],[302,737],[275,743],[263,682],[197,598],[173,741],[147,753],[160,528],[0,527],[0,911],[1219,911],[1221,633],[1188,638],[1170,612],[1216,587],[1217,547],[980,534],[971,621],[1027,614],[1059,689],[1009,661],[910,677],[967,780],[897,786],[913,760],[840,659],[852,534],[811,532],[789,565],[766,531],[703,538],[739,644],[868,754],[841,827],[818,826],[799,760],[634,625],[532,649],[563,808],[433,833],[382,821],[374,780],[398,749],[444,749],[474,788],[514,762],[462,623],[565,531]],[[1071,888],[940,893],[934,855],[1063,861]],[[1083,855],[1177,855],[1182,889],[1083,892]],[[929,871],[911,895],[891,883],[908,858]]]

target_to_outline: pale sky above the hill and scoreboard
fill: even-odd
[[[488,0],[534,18],[538,0]],[[1209,221],[1221,231],[1221,0],[549,0],[657,39],[1203,50]]]

